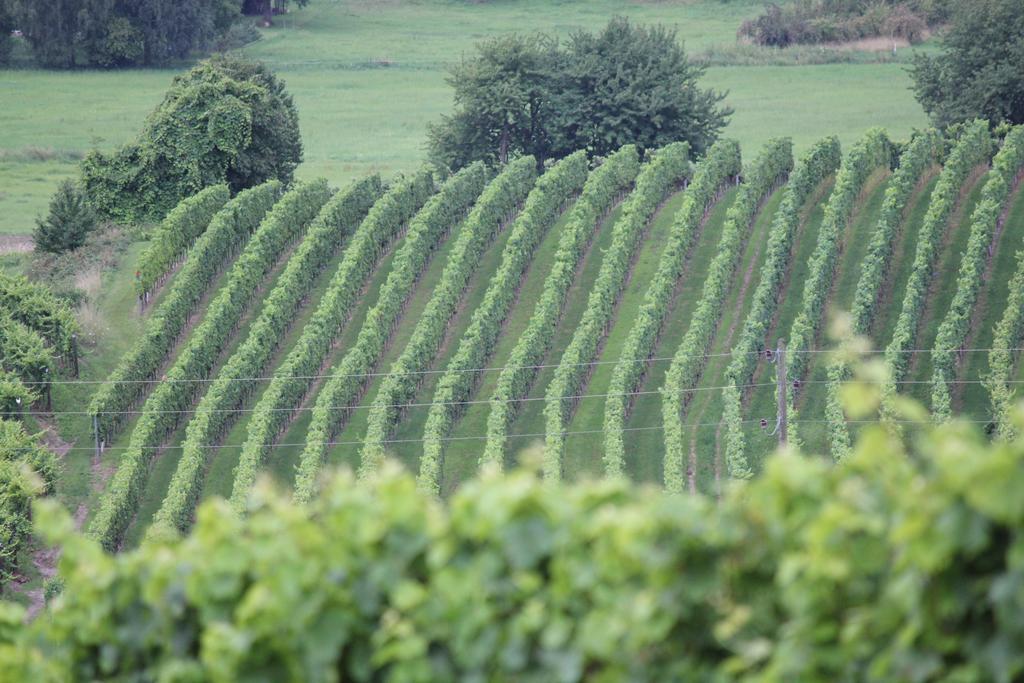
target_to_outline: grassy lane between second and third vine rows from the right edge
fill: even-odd
[[[935,345],[939,326],[942,325],[942,318],[949,310],[949,304],[956,293],[956,288],[950,285],[949,279],[955,278],[961,257],[967,248],[968,238],[971,237],[971,214],[981,200],[986,170],[987,166],[979,166],[971,173],[968,181],[964,183],[956,208],[946,226],[928,292],[928,303],[921,316],[921,325],[918,327],[918,338],[913,345],[915,349],[931,349]],[[940,276],[935,276],[936,274]],[[914,353],[905,378],[913,383],[899,386],[899,392],[910,395],[927,405],[932,395],[932,354]]]

